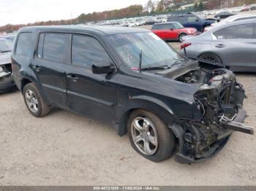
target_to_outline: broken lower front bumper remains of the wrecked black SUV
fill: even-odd
[[[246,112],[244,109],[239,109],[234,122],[244,122],[246,117]],[[211,145],[211,148],[207,152],[203,153],[200,157],[195,157],[191,155],[184,155],[182,153],[181,147],[176,154],[176,161],[178,163],[200,163],[207,160],[209,157],[214,157],[224,146],[227,144],[227,141],[230,139],[231,134],[234,130],[226,130],[225,133],[218,136],[217,141]]]

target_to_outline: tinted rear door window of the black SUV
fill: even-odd
[[[42,35],[42,34],[41,34]],[[39,38],[38,48],[42,46],[42,52],[39,52],[39,58],[46,59],[48,61],[61,62],[64,61],[65,55],[65,43],[67,40],[66,34],[45,34],[45,39]]]

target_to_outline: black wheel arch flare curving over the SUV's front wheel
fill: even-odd
[[[171,124],[176,120],[176,115],[170,106],[163,101],[148,95],[130,96],[126,103],[118,104],[114,125],[119,136],[127,133],[127,120],[130,112],[134,109],[145,109],[160,117],[166,124]]]

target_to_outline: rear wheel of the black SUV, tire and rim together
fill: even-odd
[[[29,83],[23,88],[23,98],[29,112],[34,117],[44,117],[50,112],[51,107],[45,104],[37,87]]]

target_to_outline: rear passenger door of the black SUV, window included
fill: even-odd
[[[68,34],[39,34],[37,55],[31,64],[50,104],[61,108],[67,108],[67,37]]]

